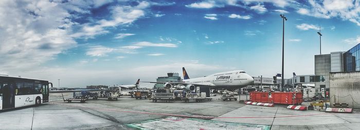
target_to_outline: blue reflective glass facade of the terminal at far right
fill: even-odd
[[[343,54],[344,71],[360,71],[360,44],[357,44]]]

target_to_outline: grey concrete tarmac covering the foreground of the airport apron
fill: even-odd
[[[70,98],[72,93],[64,93]],[[220,96],[212,97],[214,99]],[[243,100],[244,97],[241,97]],[[306,103],[304,103],[306,104]],[[141,113],[129,113],[131,112]],[[209,116],[189,118],[158,114]],[[308,115],[278,118],[221,118]],[[245,105],[238,101],[153,103],[123,96],[117,101],[88,100],[85,103],[62,101],[59,93],[50,94],[50,102],[38,107],[0,111],[0,129],[358,129],[360,114],[325,113],[318,110],[289,110]]]

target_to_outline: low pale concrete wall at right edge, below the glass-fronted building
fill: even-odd
[[[360,109],[360,72],[330,73],[330,104],[346,102]]]

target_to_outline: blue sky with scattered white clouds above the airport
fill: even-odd
[[[360,43],[359,1],[2,1],[0,72],[63,87],[190,78],[314,74],[314,55]],[[151,86],[151,84],[147,84]],[[57,85],[56,85],[57,86]]]

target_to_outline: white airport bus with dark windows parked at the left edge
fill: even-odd
[[[45,80],[0,76],[0,110],[48,102],[49,85]]]

